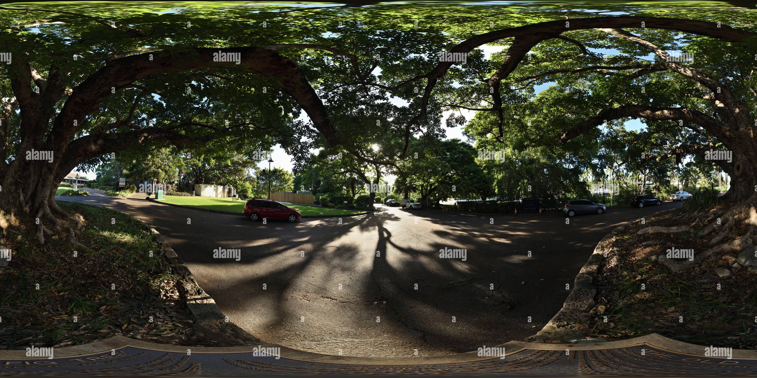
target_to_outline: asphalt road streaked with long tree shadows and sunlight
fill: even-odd
[[[531,336],[562,307],[613,228],[681,206],[603,215],[481,215],[379,206],[374,215],[267,225],[145,194],[57,197],[150,223],[231,321],[267,342],[338,355],[470,352]],[[213,249],[240,249],[239,261]],[[466,260],[440,249],[466,249]],[[531,256],[528,256],[531,253]],[[529,317],[531,322],[529,322]]]

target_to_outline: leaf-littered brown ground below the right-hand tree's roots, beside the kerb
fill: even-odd
[[[659,333],[702,345],[757,348],[757,268],[737,264],[738,253],[715,253],[693,269],[674,273],[654,256],[671,248],[704,252],[709,238],[636,234],[649,226],[693,226],[682,209],[644,221],[615,235],[595,281],[598,301],[590,320],[569,326],[609,340]],[[734,235],[743,232],[737,228]]]

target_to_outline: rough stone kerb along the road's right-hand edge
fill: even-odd
[[[667,209],[659,212],[655,212],[650,215],[646,215],[648,218],[653,215],[662,215],[665,212],[673,212],[678,209]],[[558,324],[562,321],[585,321],[590,319],[589,312],[592,308],[597,306],[597,286],[595,282],[597,276],[600,274],[600,265],[606,256],[610,256],[612,251],[612,239],[619,232],[631,228],[634,222],[639,222],[641,218],[638,218],[632,222],[628,222],[625,225],[620,225],[614,230],[606,234],[605,237],[597,243],[594,248],[594,252],[589,256],[588,261],[581,268],[581,271],[575,276],[573,281],[573,290],[562,303],[562,308],[555,314],[555,316],[547,322],[536,335],[529,336],[526,341],[541,341],[544,339],[558,339],[562,342],[571,342],[581,339],[585,336],[582,333],[576,333],[569,330],[563,330],[559,328]],[[606,255],[606,256],[605,256]],[[615,256],[612,256],[615,258]]]

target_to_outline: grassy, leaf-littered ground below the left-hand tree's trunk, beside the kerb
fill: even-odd
[[[0,349],[76,345],[115,335],[220,345],[192,330],[194,318],[177,291],[173,265],[142,223],[96,206],[58,206],[86,219],[77,238],[87,248],[58,235],[40,245],[33,225],[9,229],[19,232],[6,235],[13,256],[0,272]]]

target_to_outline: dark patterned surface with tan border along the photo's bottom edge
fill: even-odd
[[[279,345],[263,345],[277,348]],[[476,352],[425,358],[318,355],[279,347],[195,348],[115,336],[55,349],[55,358],[0,352],[0,376],[754,376],[757,351],[705,357],[705,347],[653,334],[619,342],[508,342],[503,358]]]

